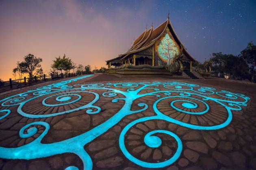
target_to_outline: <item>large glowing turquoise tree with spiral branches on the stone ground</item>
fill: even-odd
[[[42,143],[41,140],[50,130],[50,124],[46,121],[35,121],[24,125],[20,129],[20,138],[29,138],[38,132],[39,127],[44,127],[43,132],[35,140],[20,147],[0,147],[0,158],[4,159],[36,159],[41,157],[50,157],[52,155],[63,153],[74,153],[80,157],[85,170],[93,169],[93,162],[90,155],[85,151],[84,146],[95,138],[107,132],[111,127],[119,123],[124,117],[135,113],[140,113],[148,109],[146,102],[137,103],[139,109],[132,109],[135,100],[145,96],[154,96],[157,98],[152,105],[153,116],[145,116],[135,119],[128,123],[119,135],[119,147],[124,156],[133,163],[145,168],[163,168],[173,164],[182,153],[182,140],[178,135],[169,130],[153,129],[143,135],[144,143],[149,148],[158,148],[163,144],[157,134],[164,134],[167,138],[172,138],[177,143],[176,151],[168,159],[159,162],[147,162],[134,155],[126,146],[126,134],[138,123],[145,123],[150,120],[164,120],[179,126],[187,127],[193,130],[218,130],[226,127],[232,121],[232,110],[242,110],[247,106],[249,100],[243,94],[236,94],[230,91],[217,91],[212,87],[200,87],[200,85],[167,81],[167,82],[122,82],[122,83],[91,83],[68,85],[79,79],[92,75],[78,77],[60,83],[54,83],[35,90],[26,91],[21,94],[10,96],[0,100],[1,110],[0,119],[6,119],[11,115],[11,107],[17,107],[17,113],[23,117],[38,119],[46,117],[55,117],[57,115],[70,114],[76,110],[87,109],[84,114],[101,114],[101,108],[95,103],[100,97],[116,97],[110,102],[116,103],[123,101],[124,105],[112,117],[102,124],[93,127],[87,132],[78,136],[53,143]],[[104,91],[102,94],[96,90]],[[91,96],[86,104],[81,104],[84,95]],[[121,97],[119,97],[121,96]],[[51,113],[39,112],[29,113],[24,106],[28,102],[41,99],[41,105],[50,108],[58,106],[68,106],[76,104],[76,108],[53,111]],[[163,109],[164,108],[164,109]],[[172,117],[170,113],[179,113],[200,117],[215,113],[215,109],[224,110],[223,119],[211,124],[195,124],[178,120]],[[54,109],[53,109],[54,110]],[[218,112],[219,114],[219,112]],[[28,154],[29,153],[29,154]],[[69,166],[66,170],[78,169],[76,166]]]

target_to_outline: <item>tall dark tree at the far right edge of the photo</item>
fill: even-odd
[[[256,45],[254,45],[252,42],[249,42],[247,47],[241,51],[240,56],[248,64],[251,81],[254,82],[254,74],[256,72]]]

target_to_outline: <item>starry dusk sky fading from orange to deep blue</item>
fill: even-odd
[[[153,22],[167,19],[200,62],[211,53],[238,55],[256,43],[256,0],[0,0],[0,79],[13,77],[28,53],[48,73],[63,55],[92,68],[130,48]]]

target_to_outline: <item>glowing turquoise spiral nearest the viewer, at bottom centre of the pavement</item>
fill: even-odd
[[[182,151],[182,142],[180,138],[168,130],[153,130],[151,132],[145,132],[149,127],[147,127],[143,121],[147,121],[147,118],[131,122],[121,132],[119,138],[121,151],[130,161],[145,168],[162,168],[174,163]],[[132,128],[135,123],[137,124],[137,127]],[[124,140],[125,134],[127,135],[128,142],[125,142]],[[139,145],[135,145],[136,141],[134,139],[139,139],[139,136],[144,136],[145,144],[141,143]],[[127,145],[133,149],[127,149]],[[153,162],[145,161],[148,159],[151,160],[150,155],[152,156],[154,152],[161,152],[159,149],[174,149],[174,151],[170,150],[169,154],[166,152],[168,155],[163,155],[163,157],[159,157],[157,159],[155,158],[155,160],[153,159]]]

